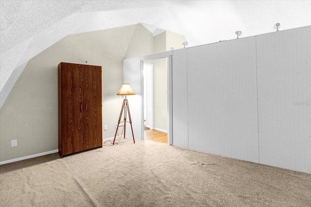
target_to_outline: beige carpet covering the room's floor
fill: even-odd
[[[311,175],[122,139],[0,166],[0,206],[311,206]]]

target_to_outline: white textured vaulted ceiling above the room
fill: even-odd
[[[141,23],[154,35],[182,34],[192,47],[235,39],[238,30],[274,32],[277,22],[280,30],[311,25],[311,1],[0,0],[1,98],[15,69],[68,34]]]

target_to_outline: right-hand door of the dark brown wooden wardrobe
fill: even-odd
[[[102,67],[84,65],[85,113],[84,148],[103,146],[102,138]]]

